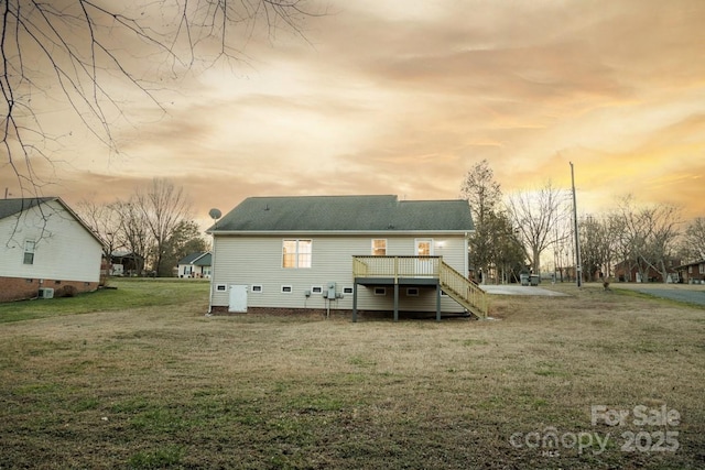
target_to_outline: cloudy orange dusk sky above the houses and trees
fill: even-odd
[[[207,220],[249,196],[457,198],[487,159],[505,194],[568,189],[573,162],[581,212],[631,193],[705,216],[702,0],[313,6],[327,14],[305,39],[254,34],[242,63],[167,84],[166,114],[126,96],[118,155],[57,98],[44,195],[109,201],[166,177]],[[0,185],[18,192],[7,165]]]

